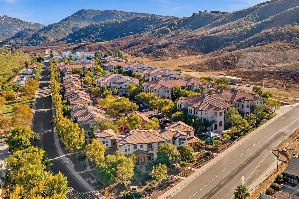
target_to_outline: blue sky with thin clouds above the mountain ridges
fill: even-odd
[[[59,22],[80,9],[186,17],[198,10],[234,12],[263,1],[266,0],[0,0],[0,15],[48,25]]]

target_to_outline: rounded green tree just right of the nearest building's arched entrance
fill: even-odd
[[[158,161],[167,164],[169,161],[177,161],[179,159],[180,152],[176,145],[166,143],[160,144],[157,150]]]

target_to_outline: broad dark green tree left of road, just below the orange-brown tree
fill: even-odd
[[[31,141],[40,140],[37,135],[29,127],[17,126],[11,130],[11,135],[7,138],[7,145],[10,149],[23,150],[31,146]]]

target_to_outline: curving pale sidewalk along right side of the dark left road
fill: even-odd
[[[54,115],[54,110],[53,109],[52,109],[52,113]],[[54,135],[55,135],[55,138],[54,138],[55,148],[56,148],[57,154],[59,155],[60,160],[64,163],[64,166],[68,169],[68,171],[74,176],[74,178],[76,178],[76,180],[83,187],[85,187],[87,190],[89,190],[89,192],[92,195],[94,195],[96,198],[99,198],[99,199],[106,199],[105,196],[103,196],[102,194],[100,194],[96,189],[94,189],[94,187],[92,187],[89,183],[87,183],[79,175],[78,172],[76,172],[74,163],[71,160],[69,160],[68,158],[66,158],[65,154],[62,152],[62,149],[60,148],[59,139],[58,139],[58,133],[57,133],[55,127],[53,128],[53,132],[54,132]]]

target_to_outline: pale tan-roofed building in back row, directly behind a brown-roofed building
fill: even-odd
[[[167,70],[165,68],[152,68],[149,70],[146,70],[141,73],[142,77],[149,77],[149,81],[154,81],[157,79],[161,80],[176,80],[180,78],[185,78],[185,75],[174,71],[174,70]]]

